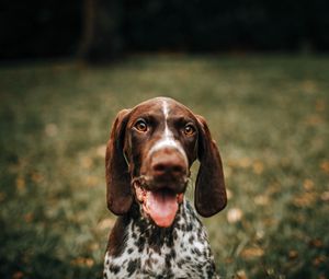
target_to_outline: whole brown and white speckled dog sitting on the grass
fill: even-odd
[[[226,206],[219,152],[203,117],[168,97],[121,111],[107,143],[106,199],[120,216],[104,278],[217,278],[207,234],[184,198],[198,159],[195,209]]]

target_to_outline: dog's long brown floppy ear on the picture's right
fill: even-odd
[[[211,217],[225,208],[227,198],[222,160],[205,119],[198,120],[200,168],[195,184],[195,208],[202,217]]]

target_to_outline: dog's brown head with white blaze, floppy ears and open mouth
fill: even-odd
[[[107,142],[107,207],[126,213],[134,201],[158,226],[170,226],[200,160],[195,208],[211,217],[226,206],[219,152],[203,117],[157,97],[118,113]]]

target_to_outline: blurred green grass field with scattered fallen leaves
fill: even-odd
[[[0,278],[102,276],[110,127],[159,95],[219,146],[229,200],[204,223],[223,278],[328,278],[329,57],[283,55],[0,67]]]

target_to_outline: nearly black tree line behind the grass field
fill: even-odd
[[[0,58],[329,49],[328,0],[3,0]]]

